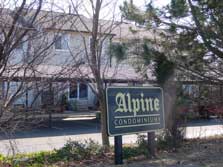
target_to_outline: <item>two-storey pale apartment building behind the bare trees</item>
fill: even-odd
[[[23,22],[24,20],[27,18],[23,18]],[[94,91],[97,90],[88,61],[92,20],[82,15],[41,11],[35,26],[33,29],[42,32],[42,35],[36,38],[30,38],[29,34],[24,36],[10,61],[13,65],[24,61],[29,63],[32,56],[35,64],[26,73],[25,70],[19,70],[13,75],[13,79],[3,82],[3,92],[16,92],[22,78],[26,85],[31,86],[21,93],[14,105],[35,108],[48,103],[61,104],[65,98],[68,110],[95,108],[97,98]],[[127,23],[100,21],[98,42],[101,46],[101,75],[104,77],[105,86],[143,82],[143,77],[128,63],[118,65],[115,58],[109,55],[112,42],[132,38],[129,27]],[[35,31],[30,34],[32,33]]]

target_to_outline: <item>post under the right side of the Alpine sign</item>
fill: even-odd
[[[153,158],[156,156],[155,132],[147,133],[147,141],[148,141],[149,157]]]

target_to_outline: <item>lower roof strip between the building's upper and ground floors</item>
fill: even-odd
[[[103,69],[103,67],[102,67]],[[65,80],[93,80],[93,74],[89,66],[62,67],[54,65],[38,65],[35,68],[24,70],[17,69],[8,70],[4,73],[3,79],[11,77],[12,74],[15,80],[26,78],[32,80],[50,79],[54,81]],[[155,77],[151,75],[151,71],[147,71],[150,81],[155,81]],[[143,82],[145,78],[140,73],[137,73],[131,66],[107,67],[101,74],[105,81],[108,82]],[[148,80],[147,80],[148,81]]]

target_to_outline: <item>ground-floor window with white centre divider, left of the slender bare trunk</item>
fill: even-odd
[[[88,97],[88,86],[84,83],[70,84],[69,98],[82,99]]]

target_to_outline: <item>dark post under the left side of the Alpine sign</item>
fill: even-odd
[[[115,136],[115,165],[123,164],[122,136]]]

